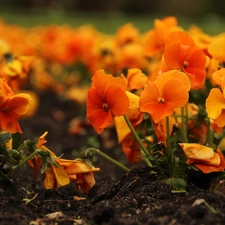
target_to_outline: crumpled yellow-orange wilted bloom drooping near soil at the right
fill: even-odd
[[[225,160],[219,149],[214,152],[212,148],[197,143],[179,145],[188,158],[187,164],[194,164],[203,173],[224,171]]]

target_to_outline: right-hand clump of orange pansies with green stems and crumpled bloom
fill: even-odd
[[[133,58],[117,62],[114,73],[103,66],[93,75],[87,118],[97,133],[114,124],[130,162],[144,159],[173,189],[185,186],[189,166],[224,172],[223,41],[223,35],[184,31],[168,17],[144,35],[141,56],[137,30],[120,28],[120,57],[130,51]]]

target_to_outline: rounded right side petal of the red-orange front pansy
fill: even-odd
[[[115,116],[123,116],[128,112],[129,99],[121,88],[110,85],[105,93],[106,103]]]

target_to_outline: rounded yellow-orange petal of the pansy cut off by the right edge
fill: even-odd
[[[212,88],[206,99],[206,111],[212,119],[218,118],[222,109],[225,108],[223,93],[218,88]]]

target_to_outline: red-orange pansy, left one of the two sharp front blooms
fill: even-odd
[[[98,70],[92,77],[92,87],[86,101],[87,117],[97,133],[109,126],[114,116],[127,113],[129,99],[125,93],[126,81]]]

